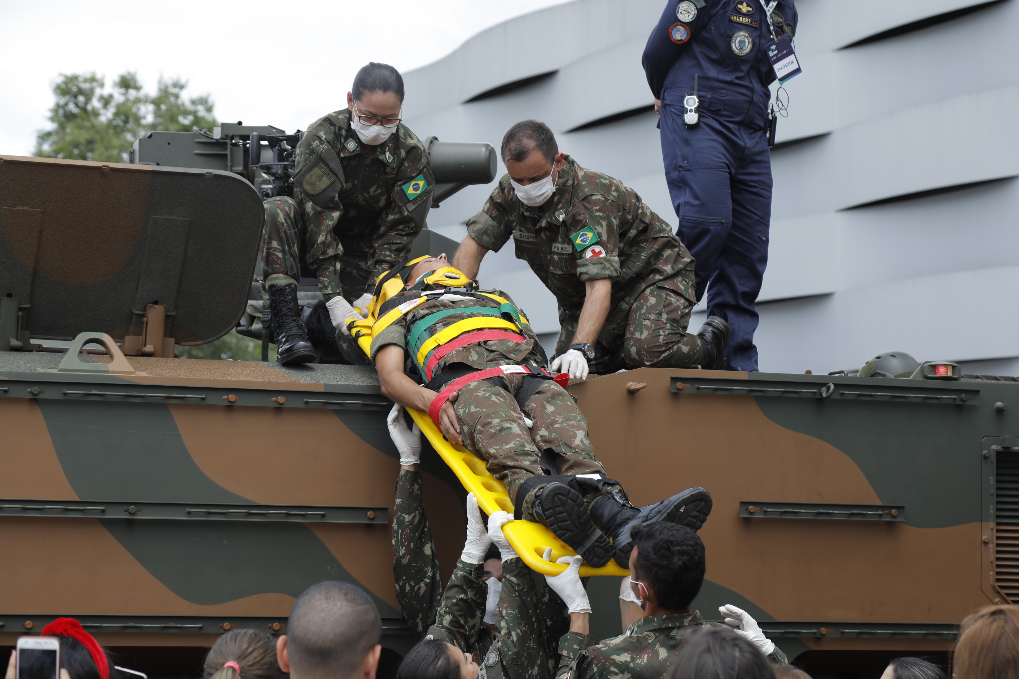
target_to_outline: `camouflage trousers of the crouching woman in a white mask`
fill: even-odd
[[[364,293],[371,275],[371,254],[346,252],[332,234],[309,228],[293,199],[277,196],[263,204],[262,276],[289,276],[301,279],[307,271],[318,279],[326,300],[342,295],[353,302]]]

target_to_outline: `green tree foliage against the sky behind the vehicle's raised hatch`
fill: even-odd
[[[156,94],[148,95],[129,71],[109,91],[95,73],[61,74],[53,86],[53,127],[39,131],[35,155],[125,163],[135,139],[149,132],[186,132],[195,125],[211,129],[216,124],[212,100],[184,97],[186,87],[186,80],[161,77]]]

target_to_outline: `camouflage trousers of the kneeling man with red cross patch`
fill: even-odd
[[[674,287],[689,287],[689,293],[681,294]],[[589,364],[591,373],[607,375],[624,367],[692,367],[699,364],[700,338],[687,332],[694,298],[693,272],[683,271],[668,281],[668,287],[656,283],[644,288],[629,309],[611,309],[605,321],[607,332],[603,331],[594,344],[594,360]],[[560,313],[562,330],[555,345],[555,355],[570,348],[579,320],[579,310]],[[611,332],[613,326],[622,332]]]

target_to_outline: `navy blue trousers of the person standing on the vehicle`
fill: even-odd
[[[697,299],[732,329],[730,370],[756,371],[757,293],[767,266],[771,157],[764,130],[700,116],[683,123],[683,108],[661,106],[661,152],[677,235],[693,256]]]

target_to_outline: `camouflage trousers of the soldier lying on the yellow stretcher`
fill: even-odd
[[[520,410],[514,399],[524,383],[520,375],[499,378],[508,391],[488,382],[472,382],[461,388],[453,403],[461,420],[461,436],[468,450],[487,462],[487,469],[501,480],[517,503],[520,485],[544,471],[540,451],[556,448],[562,452],[556,461],[556,473],[564,475],[604,473],[594,458],[587,436],[587,419],[573,397],[551,380],[544,381]],[[524,414],[534,421],[527,429]],[[524,518],[537,521],[534,503],[544,486],[538,486],[524,498]],[[607,490],[608,486],[605,487]],[[590,503],[603,491],[589,491]]]

